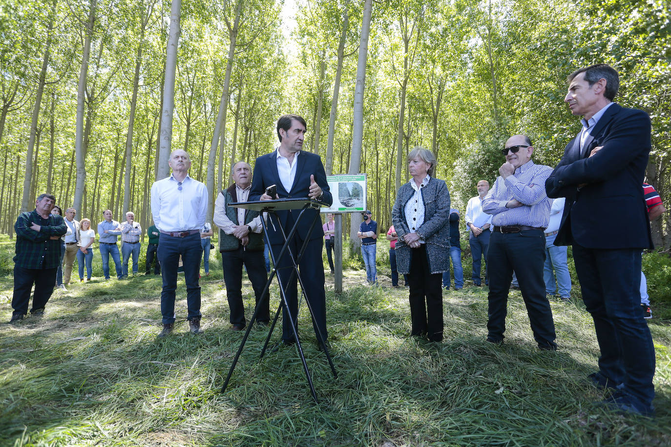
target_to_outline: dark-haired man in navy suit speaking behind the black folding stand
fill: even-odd
[[[326,182],[326,173],[321,163],[321,157],[315,153],[302,151],[303,138],[305,136],[305,119],[299,115],[282,115],[277,120],[277,137],[280,146],[271,153],[261,155],[254,164],[254,181],[250,191],[250,200],[271,200],[276,198],[313,198],[324,204],[333,203],[333,197]],[[277,194],[270,197],[265,194],[268,186],[276,185]],[[294,227],[301,210],[278,211],[277,216],[287,236]],[[319,210],[310,209],[299,222],[295,237],[289,243],[289,249],[294,257],[298,255],[303,242],[308,241],[299,271],[303,285],[305,285],[305,298],[314,315],[313,325],[317,335],[317,346],[322,349],[327,339],[326,331],[326,294],[324,291],[324,267],[321,261],[323,247],[323,231],[321,220],[313,225],[313,220],[319,218]],[[277,259],[284,244],[282,233],[276,218],[268,222],[268,239],[270,239],[273,258],[276,261],[276,269],[280,283],[287,290],[287,301],[291,318],[297,324],[298,314],[298,292],[297,277],[291,275],[291,259],[285,253],[282,259]],[[298,325],[297,325],[298,329]],[[320,337],[321,334],[321,338]],[[284,344],[295,343],[291,324],[287,316],[282,317],[282,342]]]

